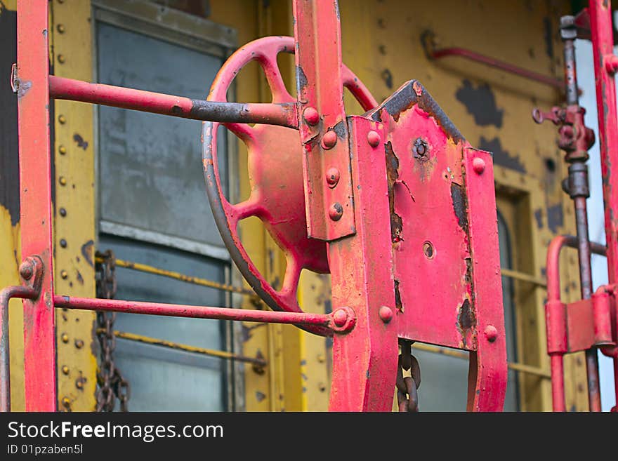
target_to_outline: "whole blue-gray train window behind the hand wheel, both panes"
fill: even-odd
[[[225,48],[166,39],[176,32],[102,10],[96,15],[98,81],[204,99]],[[157,32],[159,30],[159,32]],[[229,255],[213,221],[202,177],[202,123],[114,107],[98,108],[98,249],[118,259],[225,283]],[[223,131],[223,128],[222,128]],[[227,190],[225,133],[220,169]],[[226,305],[223,292],[155,274],[117,269],[117,298]],[[114,330],[189,347],[225,349],[216,320],[118,314]],[[115,365],[131,385],[130,410],[227,410],[220,359],[117,339]]]

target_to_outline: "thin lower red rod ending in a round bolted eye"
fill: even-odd
[[[331,314],[310,314],[305,312],[276,312],[254,309],[231,309],[228,307],[175,305],[160,302],[72,298],[60,295],[53,297],[53,304],[55,307],[64,307],[65,309],[191,317],[193,319],[291,323],[294,325],[324,326],[338,331],[347,331],[354,326],[354,314],[351,309],[346,308],[336,309]]]

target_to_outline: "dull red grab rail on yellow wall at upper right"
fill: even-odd
[[[480,62],[480,64],[501,69],[504,70],[504,72],[515,74],[525,79],[538,81],[539,83],[544,83],[545,85],[553,86],[555,88],[559,88],[560,90],[564,90],[565,88],[565,83],[561,79],[555,79],[551,76],[539,74],[538,72],[524,69],[523,67],[518,67],[516,65],[509,64],[508,62],[497,60],[466,48],[459,48],[456,46],[452,48],[434,48],[431,43],[433,41],[433,34],[430,32],[425,32],[421,39],[423,42],[423,48],[425,48],[425,53],[429,59],[433,60],[446,58],[447,56],[459,56],[459,58],[466,58],[474,62]]]

